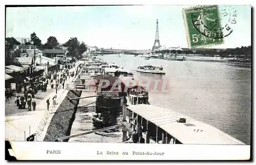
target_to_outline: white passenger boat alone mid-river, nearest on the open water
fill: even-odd
[[[165,74],[162,65],[139,65],[137,72],[152,73],[152,74]]]

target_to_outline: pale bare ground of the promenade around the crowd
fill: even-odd
[[[76,64],[77,67],[77,64]],[[71,72],[76,69],[76,67],[70,69]],[[68,78],[67,83],[71,83],[74,78]],[[66,95],[62,95],[63,91],[61,87],[57,90],[58,101],[65,98]],[[14,105],[15,97],[12,97],[9,102],[6,102],[6,115],[5,115],[5,138],[11,141],[25,141],[28,136],[35,133],[38,125],[40,124],[42,117],[45,115],[47,110],[46,100],[50,97],[53,98],[55,94],[55,89],[51,89],[50,85],[47,87],[46,92],[38,91],[35,95],[36,110],[27,111],[26,109],[18,109]],[[58,102],[57,101],[57,102]],[[60,104],[60,103],[59,103]],[[58,104],[58,105],[59,105]],[[57,105],[57,106],[58,106]],[[55,108],[57,108],[57,106]],[[50,108],[52,103],[50,104]]]

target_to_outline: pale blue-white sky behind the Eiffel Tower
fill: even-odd
[[[186,7],[189,6],[12,7],[6,9],[6,37],[30,38],[35,32],[42,43],[49,36],[55,36],[59,43],[77,37],[98,48],[147,50],[154,44],[158,19],[160,44],[187,48],[182,15]],[[251,45],[251,7],[233,7],[237,23],[231,26],[232,34],[225,37],[224,44],[212,48]]]

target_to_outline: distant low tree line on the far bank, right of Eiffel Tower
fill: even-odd
[[[194,50],[162,50],[156,51],[156,53],[161,54],[195,54],[195,55],[207,55],[207,56],[215,56],[220,55],[221,57],[229,57],[231,56],[244,56],[245,58],[251,58],[251,46],[242,46],[241,48],[235,49],[194,49]]]

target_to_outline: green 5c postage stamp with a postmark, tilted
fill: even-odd
[[[190,48],[224,42],[217,5],[183,9],[183,18]]]

